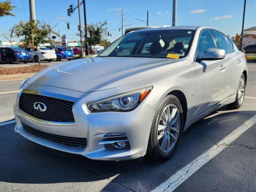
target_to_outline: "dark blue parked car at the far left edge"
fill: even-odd
[[[31,61],[30,52],[20,47],[2,47],[0,48],[0,60],[6,62],[6,64],[12,64],[12,62],[24,62]]]

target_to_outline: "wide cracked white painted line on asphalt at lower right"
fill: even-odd
[[[174,175],[172,175],[168,180],[157,186],[152,192],[172,192],[180,184],[182,184],[186,179],[188,179],[194,172],[196,172],[200,167],[210,161],[214,156],[219,154],[224,150],[231,142],[236,140],[240,135],[242,135],[246,130],[256,123],[256,115],[247,120],[244,124],[238,127],[236,130],[231,132],[228,136],[222,139],[218,144],[212,146],[198,158],[187,164],[185,167],[180,169]]]

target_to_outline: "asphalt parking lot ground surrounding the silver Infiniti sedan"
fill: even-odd
[[[182,177],[186,179],[174,191],[255,192],[256,124],[248,120],[256,115],[256,62],[249,62],[248,68],[243,106],[239,110],[222,107],[190,126],[182,134],[174,156],[161,164],[141,159],[95,161],[23,138],[14,132],[13,115],[20,81],[0,82],[0,191],[160,192],[163,182],[193,160],[199,161],[204,152],[244,126],[248,129],[208,162],[198,168],[192,163],[192,174]],[[168,182],[164,184],[166,191],[171,191]]]

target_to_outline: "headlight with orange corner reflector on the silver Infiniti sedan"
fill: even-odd
[[[153,86],[118,94],[87,104],[91,112],[120,111],[126,112],[136,108],[150,93]]]

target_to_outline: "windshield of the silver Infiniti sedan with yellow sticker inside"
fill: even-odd
[[[128,33],[99,57],[153,57],[178,59],[186,56],[194,30],[142,30]]]

